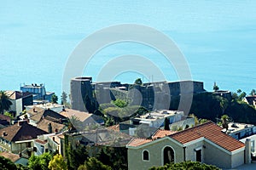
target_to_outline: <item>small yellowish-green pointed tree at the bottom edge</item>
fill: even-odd
[[[67,170],[67,162],[64,161],[61,155],[57,154],[49,161],[48,168],[51,170]]]

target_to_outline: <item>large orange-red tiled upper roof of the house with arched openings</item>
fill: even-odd
[[[234,151],[245,146],[243,143],[233,139],[228,134],[222,133],[221,130],[222,127],[219,127],[215,123],[206,122],[196,127],[191,127],[181,132],[171,134],[170,137],[181,144],[186,144],[195,139],[204,137],[229,151]]]

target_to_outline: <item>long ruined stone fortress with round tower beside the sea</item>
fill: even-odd
[[[79,111],[88,111],[86,110],[88,105],[110,103],[115,99],[124,99],[129,102],[129,105],[141,105],[148,111],[169,110],[172,97],[206,92],[203,82],[196,81],[146,82],[137,85],[121,82],[92,82],[92,77],[74,77],[70,85],[72,108]],[[183,89],[182,92],[181,89]]]

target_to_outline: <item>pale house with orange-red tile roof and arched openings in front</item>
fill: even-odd
[[[126,145],[128,169],[143,170],[182,161],[199,161],[231,169],[250,162],[250,145],[221,130],[215,123],[206,122],[177,133],[158,133],[155,139],[132,139]]]

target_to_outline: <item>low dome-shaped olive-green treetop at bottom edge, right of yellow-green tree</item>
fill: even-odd
[[[111,170],[111,167],[104,165],[102,161],[98,161],[95,157],[90,157],[84,165],[80,165],[78,170]]]

